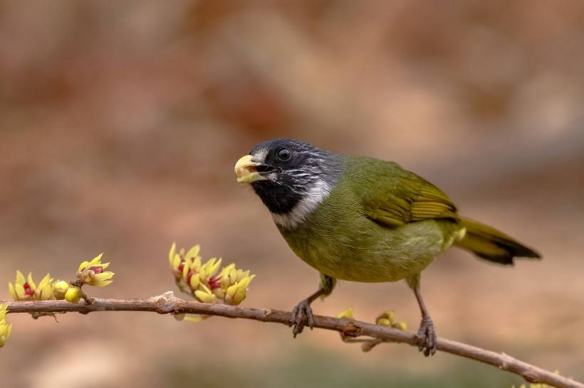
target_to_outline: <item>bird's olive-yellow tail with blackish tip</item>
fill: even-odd
[[[513,257],[541,259],[535,250],[526,247],[503,232],[468,218],[461,218],[466,227],[464,238],[455,242],[458,247],[499,264],[513,264]]]

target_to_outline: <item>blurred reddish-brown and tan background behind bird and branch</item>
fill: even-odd
[[[584,378],[584,3],[1,1],[0,298],[14,270],[72,276],[105,252],[95,296],[174,289],[170,244],[257,274],[246,306],[291,308],[294,257],[235,161],[294,137],[398,161],[470,215],[538,248],[424,271],[439,335]],[[403,283],[343,282],[316,313],[387,308]],[[414,347],[370,353],[315,330],[147,313],[9,316],[4,387],[510,387],[511,374]]]

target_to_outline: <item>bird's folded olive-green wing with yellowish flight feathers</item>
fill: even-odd
[[[458,220],[457,207],[442,190],[397,163],[364,158],[353,169],[360,180],[363,212],[386,227],[429,219]],[[363,184],[363,180],[367,180]]]

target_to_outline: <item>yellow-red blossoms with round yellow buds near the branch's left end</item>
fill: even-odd
[[[88,286],[105,287],[113,280],[113,272],[105,271],[110,263],[102,263],[99,254],[90,262],[83,262],[77,270],[77,281],[68,283],[64,280],[58,280],[53,283],[50,274],[46,274],[41,282],[36,286],[32,274],[25,278],[21,271],[16,271],[16,281],[14,284],[9,283],[8,289],[10,296],[15,301],[48,301],[49,299],[58,299],[77,303],[83,296],[81,287]]]

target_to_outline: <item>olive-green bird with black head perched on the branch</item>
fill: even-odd
[[[338,279],[405,280],[422,316],[418,349],[434,355],[437,335],[420,274],[437,255],[454,246],[504,265],[541,258],[494,227],[462,217],[442,190],[393,161],[272,139],[241,157],[235,174],[251,185],[292,251],[320,273],[318,290],[293,308],[295,338],[306,325],[313,328],[311,303],[329,296]]]

